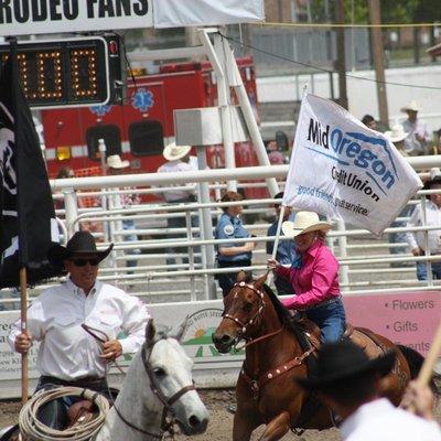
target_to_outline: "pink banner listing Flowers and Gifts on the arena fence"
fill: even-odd
[[[441,320],[440,291],[343,298],[347,321],[427,355]]]

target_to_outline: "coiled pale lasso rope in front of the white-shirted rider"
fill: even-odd
[[[55,430],[43,424],[36,418],[41,407],[56,398],[66,396],[84,397],[93,401],[99,409],[98,416],[92,421],[71,429]],[[60,387],[55,389],[41,390],[35,394],[21,409],[19,416],[19,426],[21,434],[28,440],[34,441],[87,441],[98,433],[105,422],[109,402],[107,399],[89,389],[80,387]]]

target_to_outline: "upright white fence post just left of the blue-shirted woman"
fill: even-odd
[[[197,146],[197,166],[200,170],[205,170],[207,166],[206,163],[206,151],[205,147]],[[209,189],[207,182],[200,183],[201,189],[201,204],[209,203]],[[202,217],[200,219],[201,227],[201,236],[204,240],[213,240],[213,222],[212,222],[212,212],[208,207],[202,208]],[[205,263],[206,267],[204,269],[213,269],[215,267],[215,248],[213,244],[204,245],[205,250]],[[206,279],[206,298],[207,299],[216,299],[216,282],[214,281],[213,275],[208,275]]]

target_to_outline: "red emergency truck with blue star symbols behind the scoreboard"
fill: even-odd
[[[252,60],[237,63],[257,115]],[[73,168],[77,176],[100,174],[99,139],[105,140],[107,155],[130,161],[131,172],[155,172],[165,161],[164,143],[174,137],[173,110],[216,104],[215,75],[203,62],[165,64],[158,74],[129,77],[125,105],[42,110],[49,174],[54,178],[63,166]],[[238,166],[258,163],[250,142],[237,143],[235,151]],[[222,146],[207,149],[207,162],[211,168],[224,166]]]

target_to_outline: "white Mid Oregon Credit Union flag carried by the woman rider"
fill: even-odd
[[[283,205],[379,235],[421,186],[383,133],[327,99],[303,98]]]

